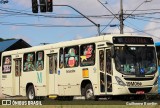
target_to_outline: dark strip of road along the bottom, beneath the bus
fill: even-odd
[[[26,99],[5,99],[9,100],[11,105],[160,105],[159,99],[151,99],[151,100],[129,100],[129,101],[123,101],[123,100],[110,100],[101,98],[98,101],[94,100],[84,100],[84,99],[74,99],[72,101],[64,101],[64,100],[54,100],[45,98],[43,100],[34,100],[29,101]],[[4,100],[0,101],[0,105],[2,105],[2,102]],[[6,104],[3,102],[3,104]]]

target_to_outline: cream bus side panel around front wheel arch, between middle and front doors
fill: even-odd
[[[83,80],[90,81],[96,95],[99,94],[98,85],[97,85],[97,72],[95,70],[95,67],[96,66],[60,69],[59,75],[58,75],[59,95],[80,96],[81,83]],[[88,69],[88,77],[83,76],[83,69],[86,69],[86,68]]]

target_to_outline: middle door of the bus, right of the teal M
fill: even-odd
[[[56,94],[56,85],[57,85],[57,53],[54,54],[49,54],[48,59],[49,59],[49,80],[48,80],[48,85],[49,85],[49,94]]]

